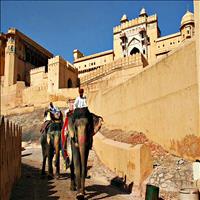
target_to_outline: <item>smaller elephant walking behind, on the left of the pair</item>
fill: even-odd
[[[53,167],[52,160],[55,152],[55,167],[56,167],[56,178],[60,174],[60,135],[63,124],[63,115],[59,111],[59,117],[55,118],[54,114],[47,111],[47,115],[50,118],[45,121],[43,127],[41,128],[40,143],[42,147],[42,175],[45,175],[46,159],[48,158],[48,177],[53,178]]]

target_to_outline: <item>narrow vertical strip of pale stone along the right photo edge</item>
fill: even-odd
[[[198,81],[198,104],[199,104],[199,136],[200,136],[200,1],[194,0],[194,18],[195,18],[195,38],[196,38],[196,65]]]

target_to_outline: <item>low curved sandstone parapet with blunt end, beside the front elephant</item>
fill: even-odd
[[[147,146],[131,145],[107,139],[101,133],[94,136],[94,148],[100,160],[119,177],[133,182],[134,186],[150,175],[152,156]]]

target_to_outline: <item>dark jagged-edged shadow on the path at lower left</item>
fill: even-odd
[[[10,200],[58,200],[59,196],[51,196],[57,191],[53,182],[46,177],[41,178],[38,168],[22,164],[22,175],[13,187]]]

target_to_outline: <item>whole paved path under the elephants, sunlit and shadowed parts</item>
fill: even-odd
[[[89,165],[95,160],[95,153],[91,151]],[[41,178],[41,150],[29,147],[23,151],[22,176],[12,191],[11,200],[70,200],[75,199],[76,192],[71,192],[69,172],[61,170],[59,180]],[[95,175],[91,166],[89,174],[91,179],[86,179],[86,200],[131,200],[131,195],[125,194],[118,188],[111,186],[103,174]],[[105,170],[104,170],[105,171]]]

